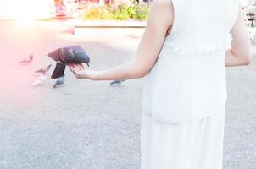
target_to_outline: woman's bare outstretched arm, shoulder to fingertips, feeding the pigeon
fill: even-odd
[[[170,0],[158,0],[151,4],[147,27],[138,46],[136,57],[129,63],[102,71],[88,68],[71,71],[77,78],[92,80],[136,79],[145,76],[159,57],[167,30],[174,21],[174,8]]]

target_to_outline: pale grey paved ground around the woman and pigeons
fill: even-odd
[[[110,87],[75,79],[67,69],[64,87],[53,90],[52,79],[31,87],[34,71],[53,63],[52,49],[81,45],[93,69],[110,68],[134,57],[138,33],[74,36],[57,34],[68,25],[15,26],[0,28],[0,168],[140,169],[143,79]],[[31,53],[33,63],[19,65]],[[256,62],[227,68],[227,78],[224,169],[255,169]]]

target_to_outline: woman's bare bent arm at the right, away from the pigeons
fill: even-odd
[[[231,41],[231,49],[227,49],[225,52],[226,67],[248,65],[253,59],[252,46],[246,25],[243,21],[241,5],[239,5],[239,8],[237,22],[231,29],[233,37],[233,40]]]

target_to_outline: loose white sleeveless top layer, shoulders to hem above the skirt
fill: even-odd
[[[225,49],[238,0],[173,0],[175,21],[147,74],[142,113],[165,123],[215,116],[227,99]]]

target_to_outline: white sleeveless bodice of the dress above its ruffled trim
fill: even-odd
[[[230,44],[230,30],[238,15],[237,0],[173,0],[175,21],[164,45],[204,52]],[[202,46],[204,48],[202,49]],[[207,48],[208,47],[208,48]]]

